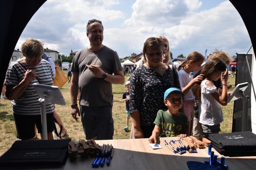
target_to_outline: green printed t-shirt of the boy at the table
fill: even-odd
[[[179,116],[172,116],[167,111],[159,110],[154,124],[161,127],[159,137],[175,137],[186,134],[187,116],[182,112]]]

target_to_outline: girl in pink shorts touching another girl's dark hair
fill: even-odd
[[[181,89],[184,96],[184,112],[187,115],[187,132],[188,136],[192,135],[193,129],[193,120],[194,120],[194,105],[195,105],[195,96],[192,92],[192,87],[195,83],[199,83],[203,80],[204,74],[198,75],[194,79],[190,79],[189,72],[191,70],[197,71],[202,63],[204,62],[205,57],[198,53],[192,52],[187,56],[187,61],[183,61],[178,67],[178,75],[180,80]]]

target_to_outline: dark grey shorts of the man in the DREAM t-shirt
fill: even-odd
[[[112,105],[89,107],[80,106],[82,124],[86,139],[97,136],[97,140],[113,139],[114,120],[112,118]]]

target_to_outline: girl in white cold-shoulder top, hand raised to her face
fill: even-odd
[[[201,71],[204,80],[193,86],[193,93],[199,99],[199,122],[203,134],[219,133],[220,123],[223,122],[221,105],[227,105],[228,71],[226,64],[220,58],[208,60]],[[226,72],[225,72],[226,71]],[[224,73],[225,72],[225,73]],[[221,78],[222,93],[218,93],[212,81]]]

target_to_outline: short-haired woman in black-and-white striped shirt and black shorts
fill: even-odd
[[[33,83],[53,85],[54,75],[49,62],[41,59],[44,54],[42,42],[27,39],[21,45],[21,51],[23,57],[10,65],[4,84],[6,85],[6,97],[11,100],[17,138],[33,140],[35,124],[42,135],[41,106]],[[53,112],[54,105],[46,104],[48,139],[53,139]]]

